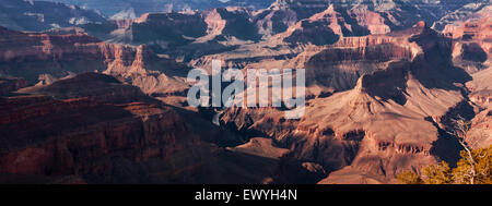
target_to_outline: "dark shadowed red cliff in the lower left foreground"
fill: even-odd
[[[2,108],[10,106],[7,109],[12,112],[2,116],[1,131],[11,131],[2,136],[30,140],[32,143],[3,140],[7,142],[0,158],[0,173],[97,173],[108,167],[104,161],[97,163],[97,159],[112,154],[122,152],[124,157],[136,161],[165,158],[198,140],[187,131],[186,124],[175,112],[145,104],[115,107],[84,100],[13,100],[16,102],[8,100],[2,104]],[[26,123],[36,119],[44,121]],[[91,119],[104,121],[94,122]],[[40,133],[44,135],[38,135]]]

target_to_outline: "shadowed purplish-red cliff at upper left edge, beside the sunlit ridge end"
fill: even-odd
[[[104,43],[86,35],[46,35],[1,29],[0,72],[35,83],[40,74],[63,77],[67,72],[104,71],[114,60]],[[107,49],[106,49],[107,48]],[[82,64],[81,62],[84,62]]]

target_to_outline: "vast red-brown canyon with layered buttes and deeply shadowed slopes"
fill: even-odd
[[[456,165],[454,119],[471,148],[492,144],[490,1],[224,5],[1,23],[0,182],[398,183]],[[305,69],[305,116],[188,106],[188,72],[212,60]]]

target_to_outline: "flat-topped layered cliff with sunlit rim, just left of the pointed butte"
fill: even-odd
[[[401,40],[401,41],[400,41]],[[353,88],[363,74],[385,70],[393,61],[412,60],[420,49],[391,37],[345,37],[311,57],[303,68],[309,84],[336,90]]]

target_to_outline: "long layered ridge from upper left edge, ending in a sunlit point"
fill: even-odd
[[[148,94],[183,93],[186,66],[157,57],[149,47],[103,43],[83,33],[49,35],[0,31],[0,73],[31,84],[84,72],[105,72]],[[173,86],[165,86],[173,82]]]

